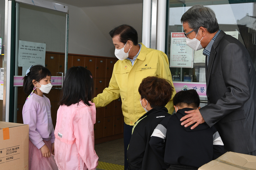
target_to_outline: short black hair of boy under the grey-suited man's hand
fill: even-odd
[[[198,108],[200,105],[200,98],[196,90],[191,89],[176,93],[173,98],[173,102],[175,106],[187,104],[193,108]]]

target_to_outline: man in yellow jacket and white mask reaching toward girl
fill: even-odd
[[[124,169],[128,167],[126,152],[132,135],[134,123],[145,114],[140,104],[138,88],[142,80],[148,76],[164,78],[171,82],[172,76],[169,61],[162,51],[146,48],[138,44],[137,31],[128,25],[118,26],[110,31],[115,55],[119,59],[113,68],[109,86],[93,99],[96,107],[103,107],[121,97],[124,116]],[[172,94],[172,98],[176,94]],[[173,101],[165,106],[169,113],[174,111]]]

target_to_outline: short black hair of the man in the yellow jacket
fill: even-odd
[[[120,36],[120,42],[126,43],[128,40],[131,40],[134,45],[138,45],[138,33],[137,31],[127,24],[123,24],[121,26],[118,26],[114,29],[112,29],[109,32],[110,36],[113,38],[116,35]]]

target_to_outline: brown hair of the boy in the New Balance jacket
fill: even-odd
[[[172,97],[174,91],[170,82],[158,77],[147,77],[139,86],[141,98],[148,100],[151,108],[165,106]]]

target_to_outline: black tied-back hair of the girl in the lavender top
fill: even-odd
[[[29,95],[33,88],[34,88],[34,84],[33,84],[33,80],[36,80],[37,82],[39,82],[41,79],[46,78],[46,76],[52,76],[52,74],[50,73],[50,71],[42,66],[42,65],[35,65],[32,66],[30,68],[30,72],[27,73],[27,76],[25,76],[23,78],[23,89],[24,92]]]

